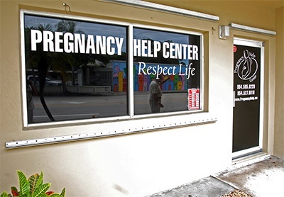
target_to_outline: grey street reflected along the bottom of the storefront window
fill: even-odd
[[[50,122],[40,103],[40,98],[36,96],[34,100],[34,122]],[[136,114],[151,113],[148,92],[135,94],[134,101]],[[45,96],[45,102],[55,120],[78,120],[97,118],[97,116],[103,118],[127,115],[126,94],[114,94],[114,96]],[[162,103],[165,106],[161,110],[162,113],[186,111],[187,94],[163,94]]]

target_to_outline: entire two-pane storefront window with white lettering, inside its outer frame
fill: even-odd
[[[202,109],[202,35],[130,26],[23,13],[26,125]]]

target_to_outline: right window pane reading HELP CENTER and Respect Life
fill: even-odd
[[[200,35],[133,28],[134,113],[200,109],[200,58]]]

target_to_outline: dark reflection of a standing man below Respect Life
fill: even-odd
[[[162,100],[162,91],[160,89],[160,84],[163,84],[165,81],[162,81],[163,76],[159,76],[159,79],[153,79],[151,81],[151,84],[149,86],[149,103],[151,107],[152,113],[158,113],[160,112],[160,108],[163,108],[163,104],[161,103]]]

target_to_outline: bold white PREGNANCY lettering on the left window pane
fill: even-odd
[[[87,40],[87,42],[86,42]],[[74,52],[101,55],[121,55],[124,38],[79,33],[31,30],[31,50],[36,51],[43,45],[45,52]]]

